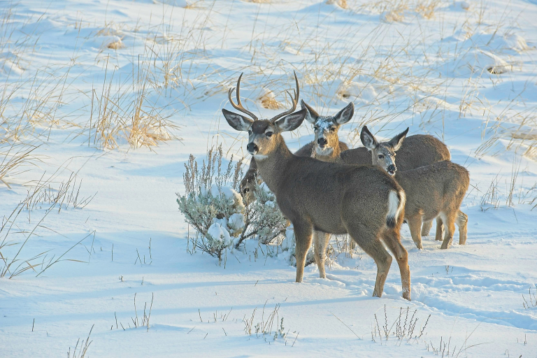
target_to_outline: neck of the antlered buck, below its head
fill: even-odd
[[[278,189],[285,182],[285,167],[292,161],[294,155],[287,148],[285,141],[280,134],[275,138],[275,148],[267,155],[255,155],[255,163],[257,164],[257,170],[259,175],[263,178],[264,182],[271,189],[271,192],[278,195]]]

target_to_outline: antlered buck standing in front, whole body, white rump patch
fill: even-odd
[[[381,243],[384,241],[399,264],[403,297],[410,300],[408,253],[399,238],[405,205],[403,189],[374,166],[347,166],[293,155],[281,133],[298,128],[307,114],[306,108],[293,113],[299,99],[296,73],[296,92],[294,96],[289,94],[292,108],[271,120],[257,120],[242,106],[239,96],[241,77],[236,87],[237,103],[231,99],[234,88],[229,90],[229,102],[251,119],[226,109],[222,109],[222,113],[231,127],[248,131],[246,148],[254,156],[264,182],[275,194],[283,215],[293,224],[296,282],[302,281],[313,231],[349,234],[377,264],[373,296],[382,296],[392,264],[392,257]],[[324,266],[324,261],[320,262],[317,255],[315,260],[320,267]]]

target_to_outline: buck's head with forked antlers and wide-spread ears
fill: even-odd
[[[246,149],[248,153],[253,155],[256,160],[265,159],[271,152],[275,150],[283,142],[283,138],[280,135],[283,131],[293,131],[298,128],[304,117],[306,117],[306,109],[299,110],[296,113],[293,111],[296,109],[296,103],[299,100],[300,88],[299,80],[296,78],[296,73],[294,73],[294,80],[296,83],[296,91],[294,91],[294,96],[289,92],[289,96],[292,101],[292,108],[286,110],[283,113],[276,115],[271,118],[271,120],[258,120],[257,117],[251,113],[249,110],[245,109],[241,103],[240,98],[240,88],[241,88],[241,76],[239,76],[236,87],[236,98],[237,103],[234,103],[231,99],[231,94],[235,88],[231,88],[228,92],[229,103],[236,110],[241,111],[242,113],[247,114],[249,117],[240,115],[238,113],[230,112],[227,109],[222,108],[222,113],[226,118],[228,124],[237,131],[248,131],[248,145]]]

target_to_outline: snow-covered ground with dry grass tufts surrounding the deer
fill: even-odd
[[[1,165],[37,146],[0,173],[1,357],[73,357],[80,338],[79,357],[90,329],[85,357],[537,357],[536,1],[0,3]],[[413,301],[396,265],[371,297],[359,249],[300,284],[255,240],[220,264],[190,252],[189,155],[245,156],[227,90],[244,72],[245,106],[268,117],[293,70],[320,113],[354,101],[351,146],[364,124],[410,127],[470,171],[466,245],[417,250],[403,226]],[[296,150],[313,131],[285,138]]]

